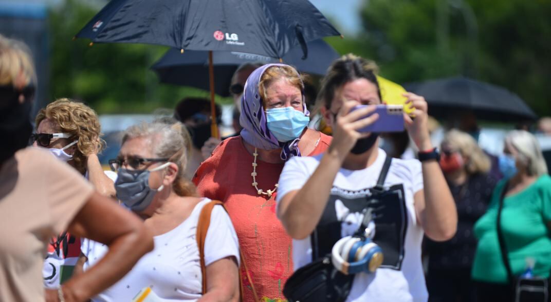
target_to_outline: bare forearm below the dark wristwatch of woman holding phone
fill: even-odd
[[[430,239],[449,240],[457,230],[455,201],[439,163],[428,161],[422,165],[424,190],[419,193],[424,194],[424,209],[420,212],[420,222]],[[415,198],[415,202],[417,200]]]

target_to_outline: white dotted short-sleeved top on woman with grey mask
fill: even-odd
[[[202,295],[202,274],[197,247],[197,223],[205,204],[199,202],[191,215],[179,226],[153,237],[155,248],[145,254],[125,277],[95,296],[92,301],[131,301],[144,287],[150,287],[161,301],[196,301]],[[100,243],[94,243],[101,245]],[[84,254],[89,246],[83,246]],[[105,249],[105,246],[103,247]],[[86,252],[85,252],[86,251]],[[90,248],[89,268],[103,255],[94,255],[101,249]],[[224,208],[215,206],[205,239],[205,265],[234,256],[239,261],[239,241]]]

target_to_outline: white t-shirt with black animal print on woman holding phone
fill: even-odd
[[[302,188],[310,175],[314,173],[322,156],[295,156],[285,163],[279,178],[278,202],[289,191]],[[375,186],[385,158],[385,151],[379,149],[379,155],[370,167],[356,171],[341,168],[333,182],[332,192],[355,194],[363,189]],[[423,228],[417,223],[413,205],[414,193],[423,189],[420,162],[418,160],[393,158],[385,180],[385,186],[395,184],[403,184],[407,210],[407,230],[406,238],[403,240],[401,268],[399,270],[379,268],[374,274],[363,272],[356,274],[347,301],[420,302],[428,299],[421,262]],[[342,208],[342,204],[339,204],[338,207]],[[337,209],[337,216],[338,212],[339,209]],[[344,220],[339,219],[339,221],[344,223]],[[356,226],[356,229],[358,227],[359,225]],[[342,230],[342,232],[345,231]],[[312,261],[310,237],[302,240],[293,239],[293,261],[295,270]]]

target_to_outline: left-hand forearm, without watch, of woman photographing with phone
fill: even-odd
[[[279,217],[292,238],[304,239],[314,231],[327,205],[342,161],[338,152],[327,150],[304,186],[298,191],[290,192],[280,201]]]

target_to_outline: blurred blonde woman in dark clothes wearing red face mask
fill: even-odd
[[[490,158],[471,135],[452,129],[444,136],[441,149],[440,167],[455,200],[458,223],[451,240],[425,238],[429,301],[475,301],[470,277],[477,248],[473,227],[486,212],[498,179],[489,173]]]

